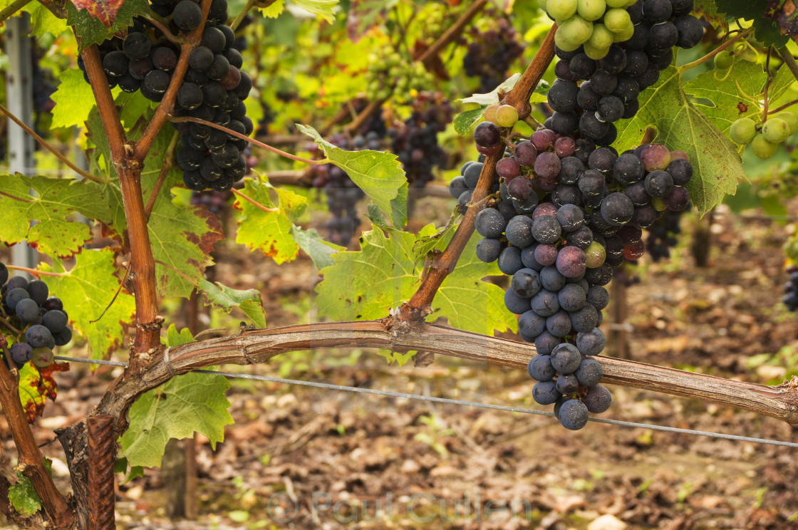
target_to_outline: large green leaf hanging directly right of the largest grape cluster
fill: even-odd
[[[659,81],[644,90],[638,101],[638,114],[616,123],[614,146],[618,152],[640,144],[646,128],[654,127],[659,143],[686,152],[692,162],[693,179],[687,188],[701,215],[721,204],[727,193],[734,194],[738,180],[745,179],[737,149],[689,101],[678,69],[669,66],[663,70]]]

